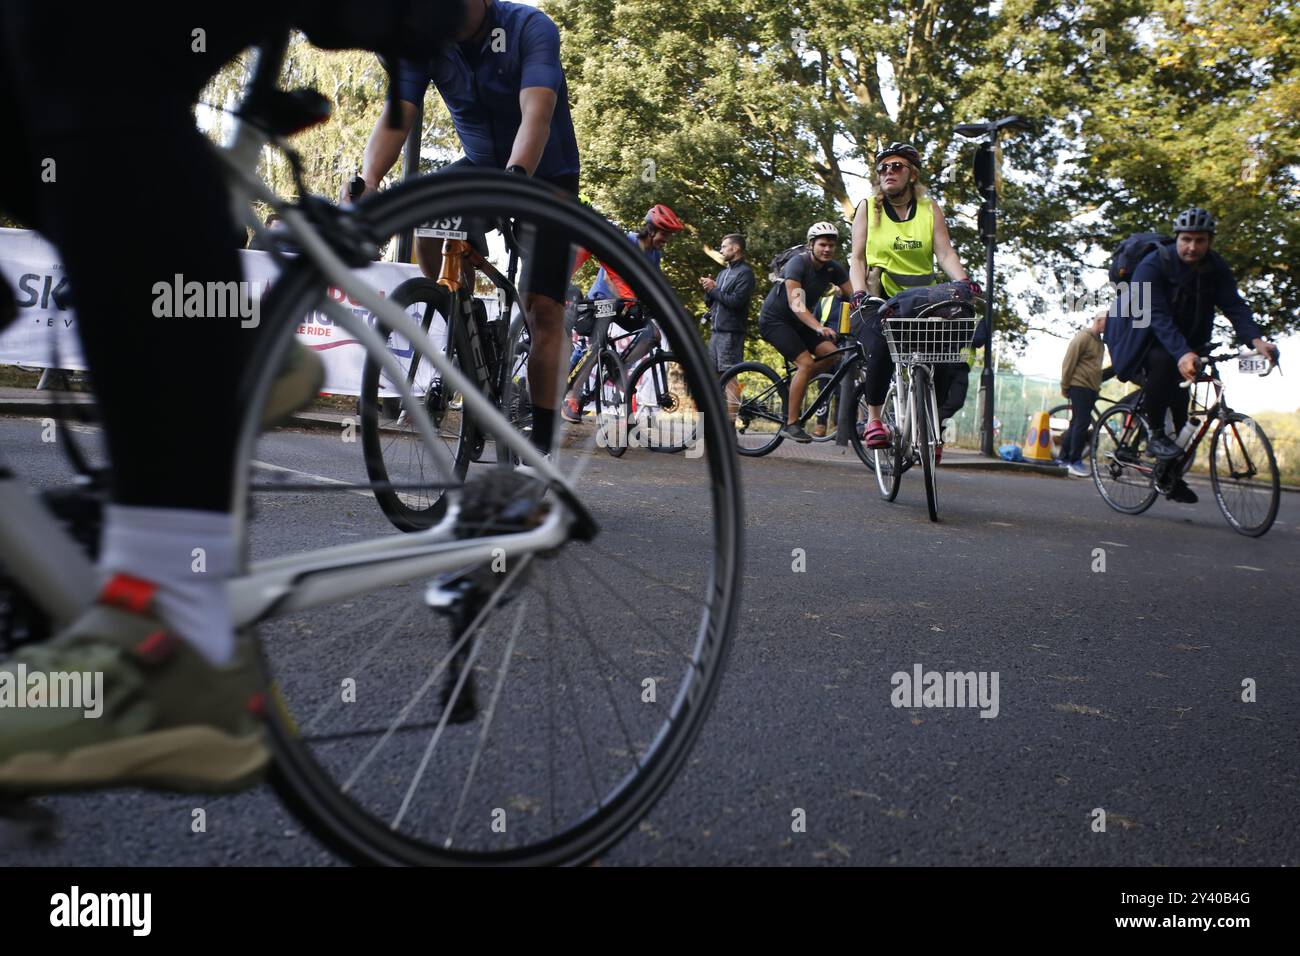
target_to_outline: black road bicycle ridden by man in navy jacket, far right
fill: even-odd
[[[1218,363],[1234,359],[1243,372],[1264,376],[1273,371],[1268,358],[1258,352],[1219,352],[1200,359],[1201,372],[1196,381],[1182,384],[1182,388],[1192,388],[1188,423],[1193,432],[1182,455],[1171,462],[1160,462],[1148,454],[1150,425],[1143,407],[1145,393],[1139,393],[1132,407],[1117,405],[1101,418],[1092,438],[1091,458],[1092,479],[1102,501],[1127,515],[1149,509],[1157,496],[1171,492],[1187,473],[1197,446],[1217,423],[1208,467],[1219,511],[1234,531],[1247,537],[1260,537],[1273,527],[1282,496],[1278,463],[1264,429],[1249,415],[1235,412],[1227,405]],[[1195,390],[1197,385],[1209,385],[1206,395],[1213,393],[1213,399],[1201,401]]]

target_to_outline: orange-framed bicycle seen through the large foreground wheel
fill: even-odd
[[[517,360],[515,368],[511,368],[507,356],[526,358],[526,349],[517,345],[517,337],[526,334],[523,317],[515,319],[519,326],[524,326],[523,330],[510,328],[519,303],[515,274],[520,248],[508,221],[498,222],[510,252],[507,274],[502,274],[469,243],[469,232],[464,225],[463,217],[454,216],[416,228],[417,237],[443,241],[441,274],[436,281],[424,276],[410,278],[398,285],[389,298],[408,312],[416,310],[413,317],[421,332],[425,336],[436,333],[436,339],[443,343],[447,360],[458,364],[478,390],[499,406],[506,393],[507,376],[519,371]],[[467,260],[498,290],[498,315],[494,321],[488,321],[486,308],[474,295],[473,287],[464,287],[462,265]],[[421,363],[417,350],[393,330],[387,330],[386,337],[389,350],[403,365],[407,385],[417,401],[424,403],[450,449],[456,477],[463,479],[469,462],[480,460],[486,436],[464,415],[463,395],[446,388],[437,369]],[[365,471],[376,483],[374,496],[394,527],[400,531],[420,531],[446,512],[447,502],[441,490],[421,488],[426,473],[424,446],[411,425],[406,406],[400,399],[389,398],[393,392],[381,364],[368,356],[361,369],[358,407]],[[525,424],[525,411],[516,407],[511,411],[511,420]],[[399,485],[403,483],[411,488],[400,490]]]

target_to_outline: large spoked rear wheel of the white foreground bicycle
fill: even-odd
[[[646,457],[633,475],[595,449],[594,436],[582,447],[564,442],[556,467],[590,511],[594,537],[510,557],[500,574],[482,559],[428,589],[432,571],[411,566],[412,551],[484,533],[508,544],[529,533],[514,531],[520,522],[538,507],[566,507],[568,493],[552,489],[538,505],[534,480],[474,466],[460,506],[448,509],[446,542],[432,537],[441,533],[434,528],[399,538],[404,550],[384,558],[374,549],[391,536],[380,515],[348,498],[296,489],[257,507],[240,553],[259,555],[254,570],[269,567],[263,574],[281,574],[304,546],[337,551],[339,535],[367,536],[354,545],[368,549],[360,566],[295,576],[256,626],[274,682],[277,791],[304,826],[358,862],[573,864],[607,851],[685,765],[738,615],[744,496],[716,373],[694,325],[621,233],[515,179],[481,172],[412,179],[363,199],[358,215],[377,237],[462,213],[511,215],[590,248],[655,310],[701,407],[703,454]],[[306,256],[285,272],[263,310],[268,349],[287,342],[325,285]],[[268,355],[248,407],[260,406],[272,377]],[[250,418],[240,460],[259,473],[274,466],[273,440],[259,447]],[[322,455],[313,468],[330,467]],[[247,471],[233,499],[240,516],[247,492],[274,493]],[[503,531],[506,522],[515,524]],[[277,533],[286,525],[291,544]],[[428,553],[419,561],[438,557]],[[399,570],[410,580],[393,583],[394,561],[406,562]],[[341,697],[341,685],[352,689]],[[463,706],[469,688],[476,702]]]

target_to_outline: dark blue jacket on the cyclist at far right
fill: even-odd
[[[1264,334],[1236,290],[1232,269],[1213,250],[1193,268],[1173,245],[1156,248],[1138,263],[1130,287],[1131,300],[1122,287],[1106,316],[1106,349],[1119,381],[1136,377],[1152,341],[1175,359],[1209,345],[1216,308],[1247,345]]]

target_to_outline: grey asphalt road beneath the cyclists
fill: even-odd
[[[56,480],[38,432],[3,420],[0,447]],[[360,477],[358,447],[328,434],[277,433],[259,458]],[[703,561],[701,473],[645,451],[592,464],[606,522],[630,529],[619,553],[656,580]],[[722,693],[686,769],[603,865],[1300,864],[1300,496],[1251,540],[1208,493],[1130,518],[1091,483],[945,470],[931,524],[915,473],[892,505],[853,467],[746,460],[742,479],[744,614]],[[254,542],[384,527],[364,496],[282,496]],[[996,672],[996,717],[894,706],[893,675],[916,666]],[[338,862],[265,787],[40,803],[58,842],[4,864]]]

